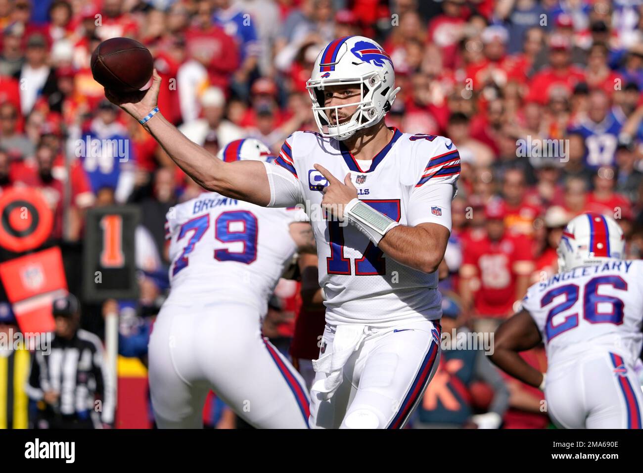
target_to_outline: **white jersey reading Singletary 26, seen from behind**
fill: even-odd
[[[538,326],[549,364],[599,348],[635,360],[643,343],[643,261],[556,274],[529,288],[523,308]]]

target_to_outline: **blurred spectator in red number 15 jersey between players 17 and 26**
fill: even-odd
[[[514,303],[521,301],[529,287],[533,270],[531,245],[523,236],[505,230],[507,210],[500,199],[485,208],[487,233],[467,241],[460,268],[463,302],[482,320],[478,331],[494,331],[514,313]]]

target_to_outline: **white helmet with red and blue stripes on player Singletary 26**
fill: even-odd
[[[567,224],[558,244],[558,271],[622,259],[623,231],[616,221],[601,214],[582,214]]]

